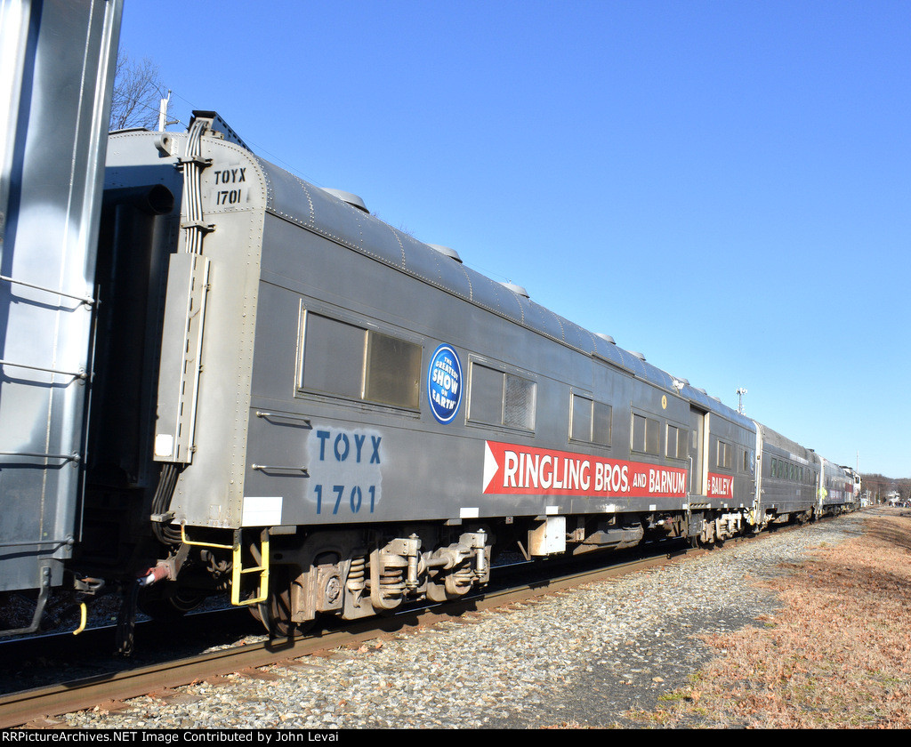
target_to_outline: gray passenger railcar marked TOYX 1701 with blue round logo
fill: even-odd
[[[146,279],[124,303],[161,331],[131,363],[113,343],[99,355],[157,417],[126,438],[90,428],[105,445],[87,507],[109,520],[117,496],[134,516],[156,491],[149,516],[175,548],[149,565],[170,579],[158,588],[186,588],[191,568],[208,583],[206,563],[240,573],[251,547],[285,623],[354,618],[483,584],[507,540],[540,557],[691,533],[687,384],[209,128],[227,129],[206,115],[186,137],[108,146],[101,255]],[[166,194],[182,216],[149,215]],[[116,296],[117,279],[99,282]],[[127,309],[107,306],[116,327]],[[93,418],[117,420],[121,400]],[[702,404],[700,454],[723,447],[722,424],[750,427]],[[733,482],[706,470],[699,521]],[[87,543],[83,572],[106,575],[103,554],[130,546]]]

